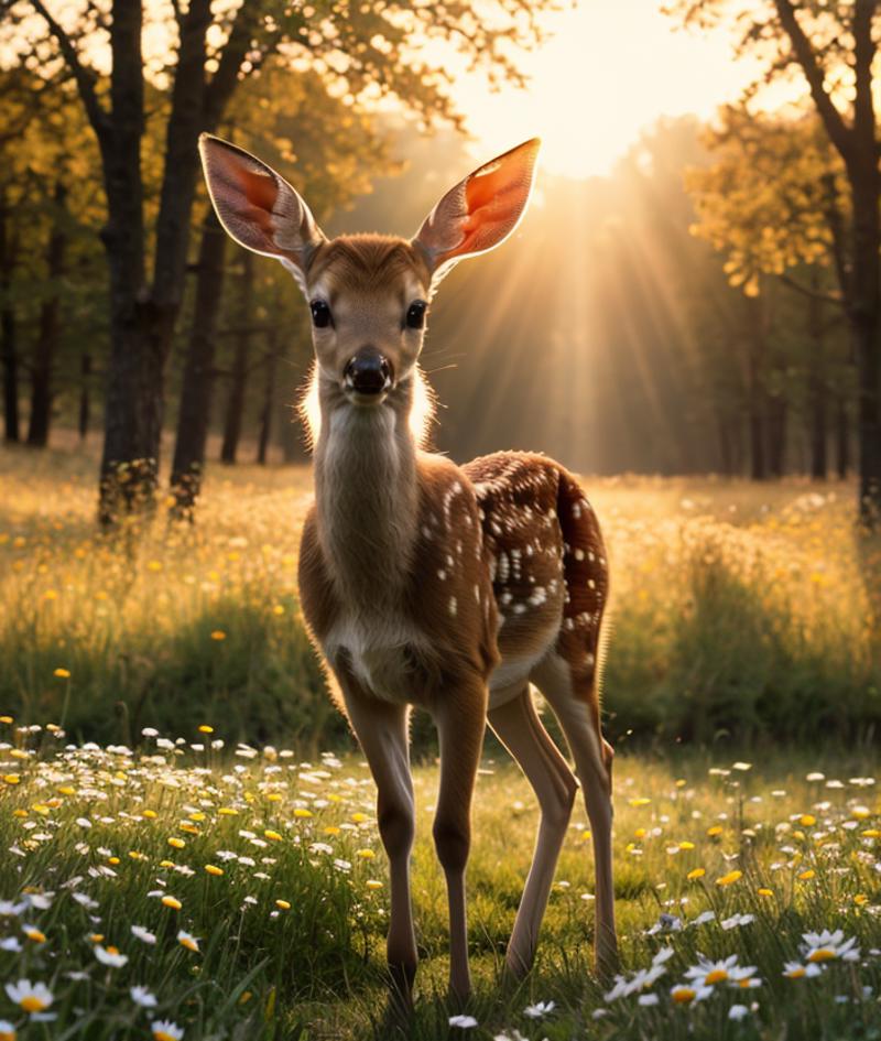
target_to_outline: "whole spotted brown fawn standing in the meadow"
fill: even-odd
[[[516,976],[532,964],[577,783],[535,712],[531,682],[559,719],[584,790],[595,954],[608,970],[617,942],[612,749],[600,731],[598,695],[608,587],[599,524],[559,464],[502,452],[456,466],[422,449],[416,415],[428,400],[418,367],[428,301],[455,262],[514,230],[539,141],[467,176],[409,241],[328,240],[294,188],[260,160],[208,135],[200,152],[224,227],[241,246],[280,260],[312,311],[315,505],[303,530],[300,594],[377,784],[395,993],[410,1002],[416,970],[411,705],[432,713],[440,744],[434,841],[449,900],[450,991],[470,989],[465,866],[487,722],[541,806],[507,955]]]

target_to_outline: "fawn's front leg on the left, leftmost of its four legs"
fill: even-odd
[[[389,856],[391,881],[389,972],[396,996],[410,1005],[417,961],[410,898],[410,854],[415,833],[407,735],[410,709],[371,697],[350,676],[340,676],[340,686],[349,722],[377,784],[377,821]]]

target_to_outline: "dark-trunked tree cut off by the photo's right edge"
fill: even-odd
[[[838,269],[857,359],[859,513],[881,517],[881,176],[874,112],[873,64],[878,0],[677,0],[668,10],[686,24],[737,33],[739,54],[758,57],[764,82],[801,77],[841,160],[851,212]],[[748,98],[759,93],[753,85]],[[847,101],[845,100],[847,98]]]

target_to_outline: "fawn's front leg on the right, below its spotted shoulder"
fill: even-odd
[[[440,744],[434,842],[446,876],[449,903],[449,990],[454,998],[464,1000],[471,990],[465,867],[471,845],[471,796],[486,728],[486,683],[474,677],[444,691],[434,717]]]

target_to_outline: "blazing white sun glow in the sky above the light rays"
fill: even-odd
[[[580,0],[548,14],[546,28],[552,37],[522,59],[525,90],[491,93],[474,74],[457,82],[476,156],[539,135],[550,172],[605,175],[643,128],[661,116],[710,117],[754,72],[726,40],[676,31],[656,0]]]

